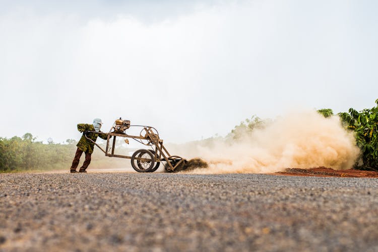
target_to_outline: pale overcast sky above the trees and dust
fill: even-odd
[[[181,143],[256,114],[369,108],[378,1],[1,1],[0,137],[94,117]]]

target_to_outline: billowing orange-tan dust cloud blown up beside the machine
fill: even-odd
[[[186,159],[199,157],[206,168],[189,173],[267,173],[285,168],[325,166],[350,169],[359,155],[352,133],[339,117],[323,117],[317,111],[287,113],[263,129],[232,137],[212,138],[169,147]]]

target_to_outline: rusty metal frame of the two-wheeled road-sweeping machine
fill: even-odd
[[[108,133],[102,132],[101,134],[107,135],[105,150],[101,146],[96,144],[96,142],[94,142],[93,140],[88,138],[86,135],[84,135],[84,136],[85,136],[86,139],[88,139],[89,141],[94,143],[103,153],[105,153],[105,156],[107,156],[107,157],[118,157],[118,158],[128,158],[128,159],[132,158],[131,156],[114,154],[115,139],[116,139],[116,137],[121,137],[121,138],[130,138],[130,139],[134,139],[134,140],[137,140],[137,139],[138,140],[146,140],[146,141],[148,141],[147,144],[143,143],[142,141],[138,141],[138,140],[137,141],[144,144],[144,145],[147,145],[147,146],[155,146],[155,154],[154,154],[155,162],[161,162],[161,161],[167,162],[167,165],[169,167],[166,167],[166,169],[168,171],[174,171],[183,162],[185,162],[185,160],[183,158],[181,158],[179,156],[171,156],[169,154],[168,150],[163,145],[163,140],[159,138],[158,134],[155,134],[153,132],[153,129],[156,131],[155,128],[150,127],[150,126],[144,126],[144,125],[132,125],[131,127],[133,127],[133,126],[134,127],[143,127],[140,136],[132,136],[132,135],[128,135],[126,133],[111,132],[114,129],[114,127],[112,127],[110,129],[110,132],[108,132]],[[146,132],[146,135],[144,137],[142,136],[143,131]],[[88,131],[88,133],[97,133],[98,134],[98,132],[94,132],[94,131]],[[113,142],[112,142],[111,148],[109,148],[111,138],[113,138]],[[136,159],[140,159],[140,158],[136,158]],[[177,163],[175,163],[175,165],[173,166],[170,161],[177,160],[177,159],[180,159],[180,160]]]

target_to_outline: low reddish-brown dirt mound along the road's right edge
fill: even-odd
[[[309,169],[287,168],[285,171],[279,171],[272,174],[276,175],[293,175],[293,176],[320,176],[320,177],[378,177],[376,171],[363,170],[334,170],[332,168],[318,167]]]

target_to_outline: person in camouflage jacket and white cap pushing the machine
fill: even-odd
[[[86,169],[91,162],[91,155],[93,153],[93,147],[95,145],[94,142],[96,142],[97,137],[100,137],[104,140],[107,139],[107,135],[100,131],[101,125],[102,121],[100,118],[94,118],[92,124],[78,124],[78,131],[82,132],[83,136],[81,137],[79,143],[76,145],[78,149],[76,150],[74,160],[72,161],[72,166],[70,168],[71,172],[78,172],[76,168],[79,165],[80,157],[83,152],[85,153],[85,161],[82,167],[80,167],[79,172],[87,172]],[[89,138],[93,142],[89,141],[85,136],[87,136],[87,138]]]

